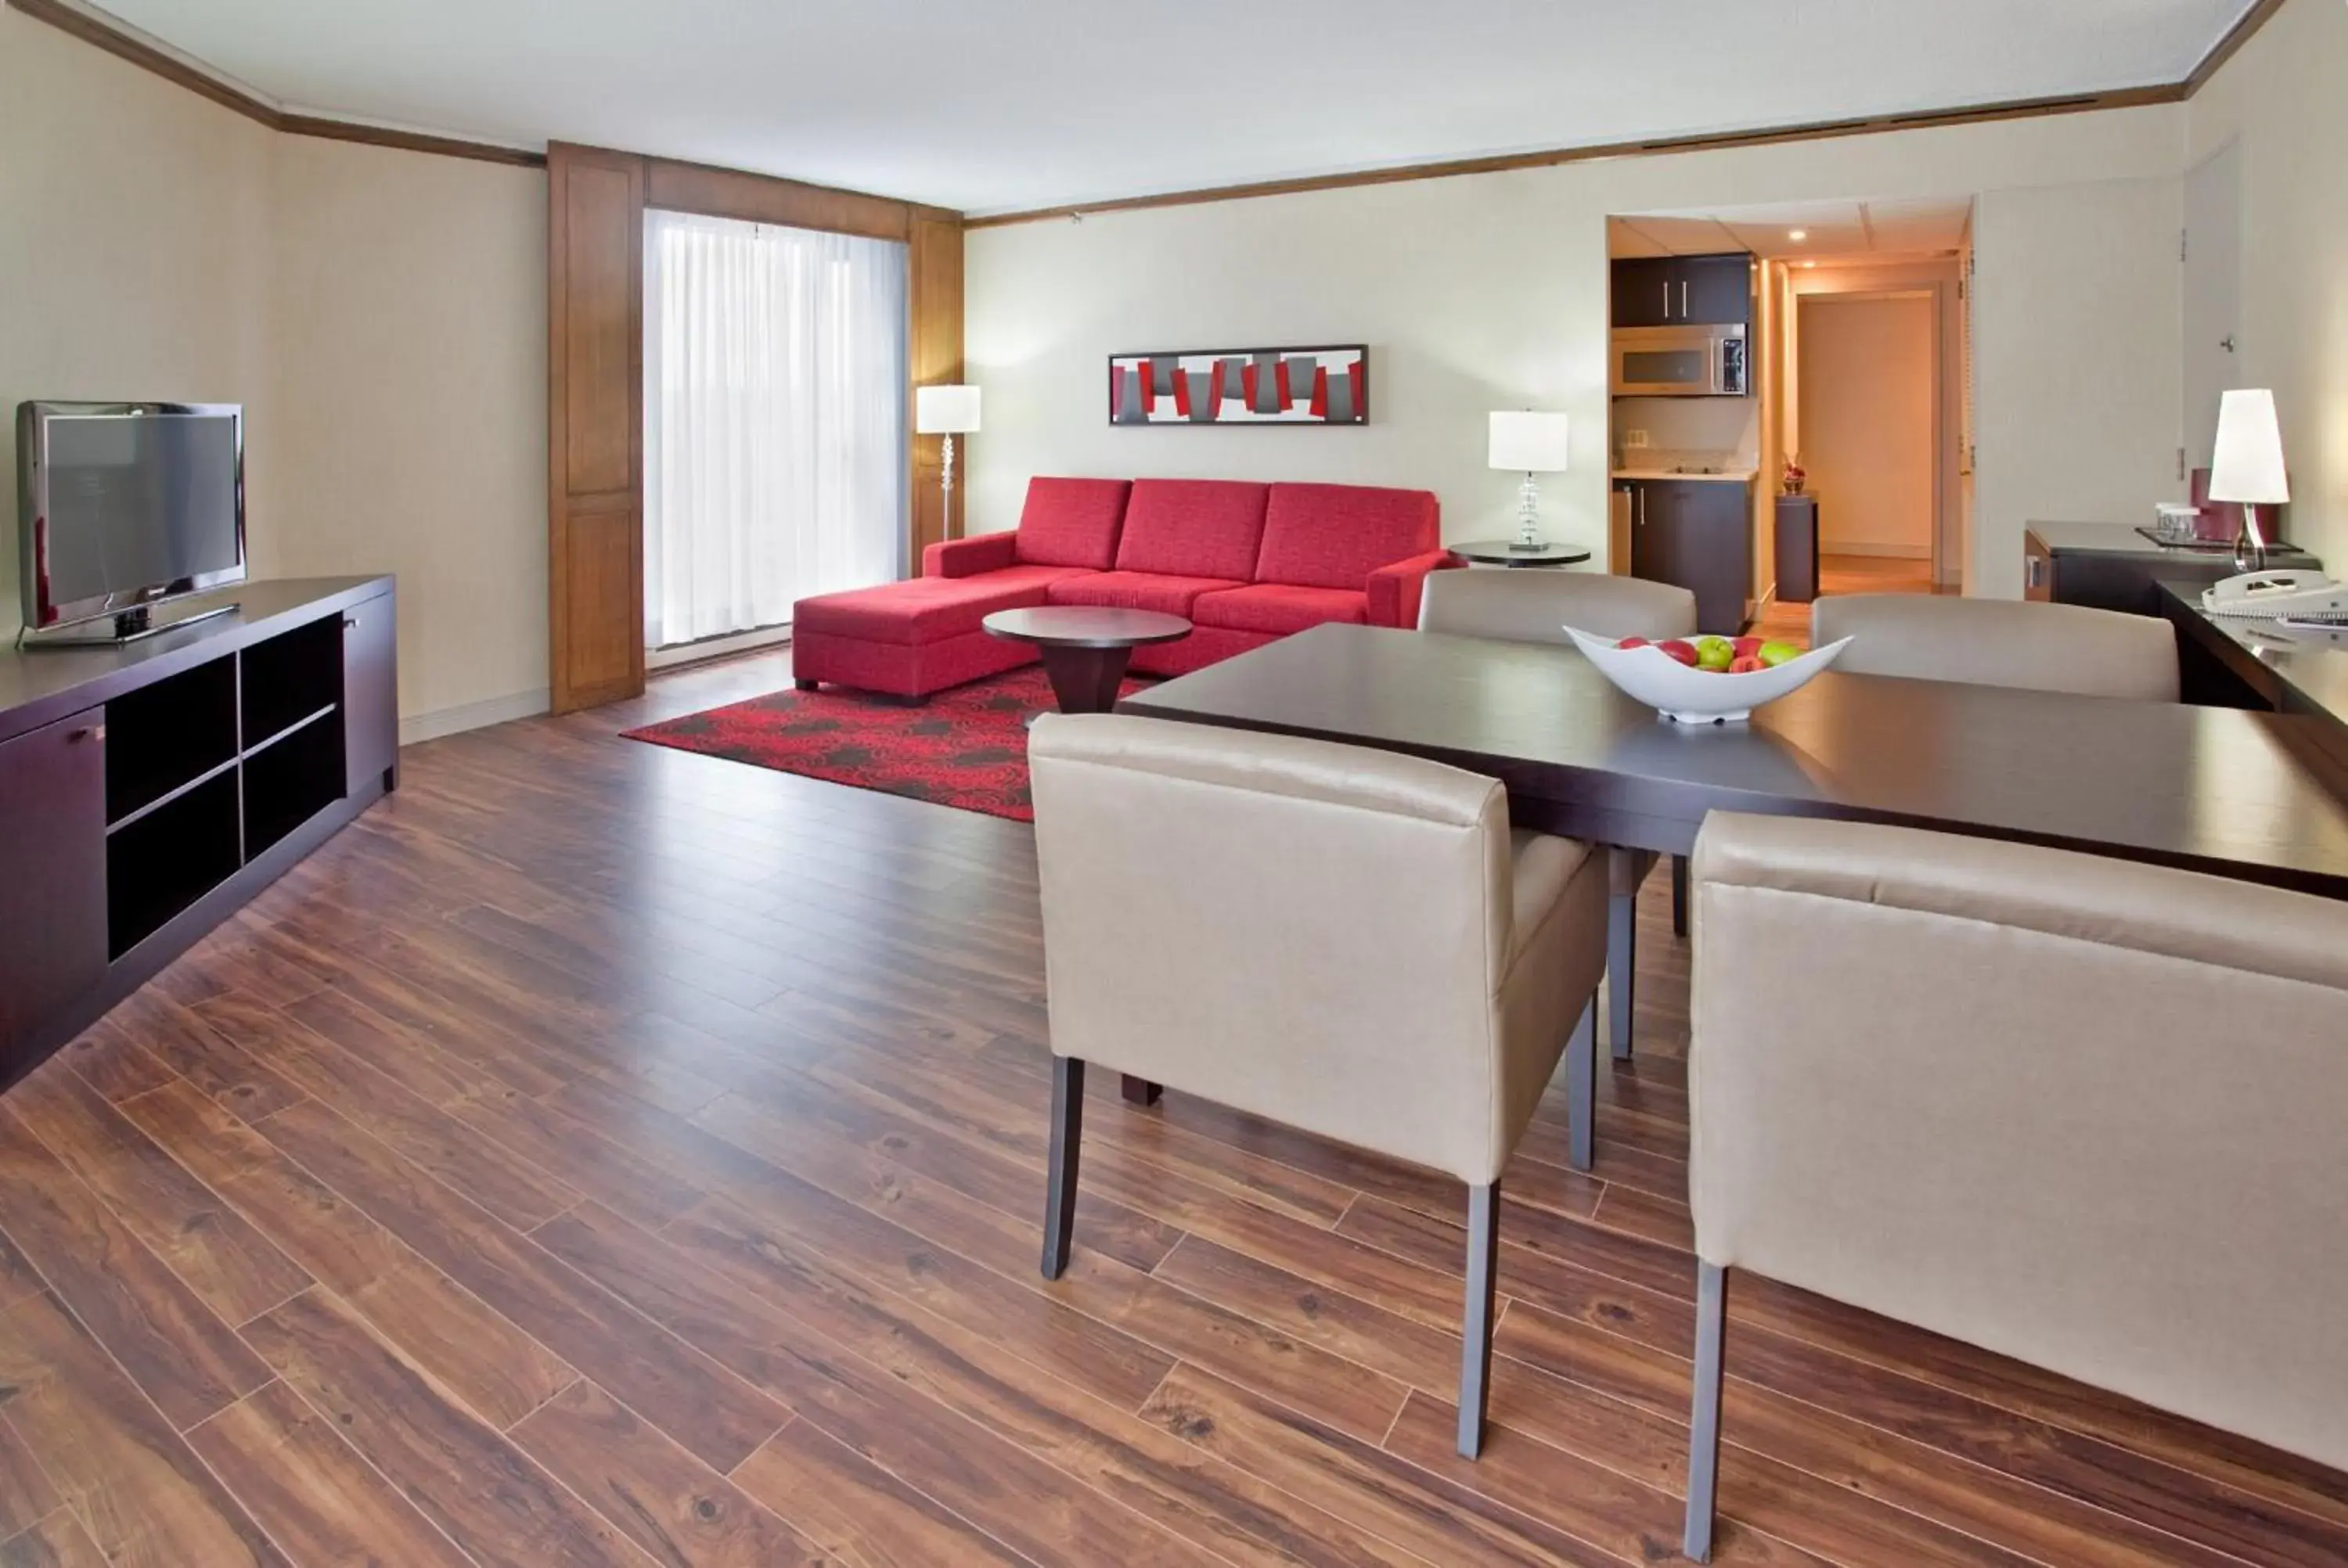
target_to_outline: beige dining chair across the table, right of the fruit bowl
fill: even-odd
[[[1831,594],[1810,606],[1813,648],[1846,636],[1834,667],[1857,676],[2177,702],[2177,629],[2155,615],[1944,594]]]

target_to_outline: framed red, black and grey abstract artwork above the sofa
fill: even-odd
[[[1111,425],[1367,425],[1369,350],[1111,354]]]

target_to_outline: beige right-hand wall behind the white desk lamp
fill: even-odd
[[[2273,387],[2289,535],[2348,575],[2348,7],[2289,0],[2188,103],[2186,167],[2242,150],[2238,385]],[[2202,437],[2205,439],[2205,437]]]

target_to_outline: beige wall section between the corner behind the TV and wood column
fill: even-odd
[[[547,178],[277,146],[275,570],[399,577],[406,735],[547,704]]]

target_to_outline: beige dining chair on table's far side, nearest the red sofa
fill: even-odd
[[[1507,643],[1573,646],[1566,627],[1592,636],[1665,641],[1695,636],[1695,594],[1674,582],[1496,568],[1432,573],[1418,601],[1421,631],[1491,636]],[[1639,885],[1655,866],[1646,850],[1611,850],[1606,859],[1606,1038],[1618,1061],[1632,1054],[1639,988]],[[1672,857],[1672,930],[1688,934],[1688,859]]]

